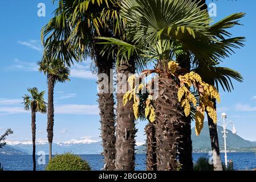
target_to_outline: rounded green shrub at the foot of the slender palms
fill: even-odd
[[[55,155],[48,163],[46,171],[91,171],[91,167],[79,156],[67,153]]]

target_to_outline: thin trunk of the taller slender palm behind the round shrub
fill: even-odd
[[[52,158],[52,140],[54,137],[54,84],[54,76],[48,75],[47,137],[49,143],[49,161]]]

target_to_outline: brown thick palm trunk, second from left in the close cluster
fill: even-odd
[[[122,73],[128,78],[129,74],[135,73],[135,65],[121,64],[117,73]],[[127,81],[127,80],[125,80]],[[121,77],[117,76],[117,85]],[[128,85],[127,85],[128,86]],[[133,114],[133,100],[123,105],[124,93],[117,90],[117,125],[116,125],[116,170],[133,171],[135,169],[135,117]]]

